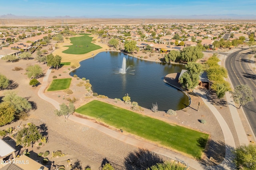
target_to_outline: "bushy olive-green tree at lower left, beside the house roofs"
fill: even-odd
[[[29,147],[41,139],[42,135],[39,132],[36,125],[29,123],[28,127],[23,127],[17,133],[16,146],[21,145],[23,147]]]

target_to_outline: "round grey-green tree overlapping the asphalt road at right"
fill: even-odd
[[[240,104],[239,109],[242,105],[253,101],[252,89],[247,84],[237,85],[233,92],[231,92],[234,102]]]

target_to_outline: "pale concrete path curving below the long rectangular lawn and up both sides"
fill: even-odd
[[[42,86],[40,87],[40,89],[38,91],[38,96],[40,98],[42,98],[43,100],[46,100],[47,102],[50,102],[56,109],[60,109],[60,104],[56,100],[48,98],[47,96],[44,95],[44,90],[46,89],[46,87],[48,85],[48,77],[50,75],[50,72],[51,72],[51,69],[49,68],[46,72],[46,75],[45,75],[44,79],[43,79]],[[108,129],[107,127],[99,125],[98,123],[94,123],[94,122],[92,122],[88,119],[82,119],[82,118],[76,117],[74,115],[70,115],[69,119],[72,120],[72,121],[75,121],[77,123],[81,123],[83,125],[86,125],[88,127],[92,127],[94,129],[97,129],[97,130],[101,131],[102,133],[110,135],[111,137],[114,137],[115,139],[118,139],[118,140],[123,141],[125,143],[128,143],[130,145],[136,146],[138,148],[148,149],[152,152],[167,156],[167,157],[172,158],[174,160],[176,160],[176,158],[179,158],[180,160],[183,160],[186,164],[188,164],[190,167],[192,167],[196,170],[205,170],[205,169],[208,169],[208,170],[215,170],[215,169],[230,170],[230,169],[235,169],[234,164],[232,164],[232,161],[231,161],[232,160],[232,154],[231,154],[230,149],[228,147],[228,146],[235,147],[234,138],[232,136],[232,133],[231,133],[226,121],[220,115],[218,110],[207,100],[205,94],[201,94],[200,91],[198,92],[198,94],[200,94],[200,96],[202,96],[203,101],[212,110],[212,112],[216,116],[217,120],[219,121],[219,123],[221,125],[221,128],[222,128],[222,131],[224,133],[224,138],[225,138],[225,143],[226,143],[226,156],[225,156],[225,159],[222,162],[222,164],[220,164],[218,166],[204,166],[200,162],[198,162],[198,161],[196,161],[192,158],[188,158],[188,157],[186,157],[182,154],[178,154],[178,153],[172,152],[168,149],[157,147],[156,145],[152,145],[152,144],[146,143],[144,141],[139,141],[137,139],[127,137],[126,135],[123,135],[122,133],[118,133],[116,131]]]

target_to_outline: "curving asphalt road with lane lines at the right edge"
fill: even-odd
[[[248,59],[249,54],[250,51],[248,49],[228,54],[225,67],[228,70],[228,76],[234,87],[240,84],[247,84],[252,89],[254,100],[247,103],[243,108],[256,135],[256,75],[248,66],[248,62],[254,62]]]

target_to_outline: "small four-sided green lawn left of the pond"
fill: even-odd
[[[72,78],[54,79],[47,91],[65,90],[69,88]]]

